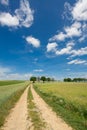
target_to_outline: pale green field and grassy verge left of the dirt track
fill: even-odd
[[[0,86],[0,127],[29,83]]]

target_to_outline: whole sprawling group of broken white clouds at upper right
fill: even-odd
[[[87,0],[78,0],[71,6],[69,3],[65,3],[65,14],[69,15],[69,26],[64,26],[63,31],[58,31],[53,37],[49,39],[50,42],[54,42],[55,46],[57,42],[64,42],[63,48],[59,49],[55,46],[47,52],[54,52],[55,55],[70,55],[70,57],[87,55],[87,47],[81,47],[75,49],[76,43],[81,43],[87,38]],[[65,40],[74,41],[66,44]],[[49,44],[48,44],[49,45]],[[47,46],[48,46],[47,45]],[[48,46],[49,47],[49,46]]]

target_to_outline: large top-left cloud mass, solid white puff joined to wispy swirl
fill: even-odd
[[[0,13],[0,24],[8,27],[30,27],[33,24],[33,11],[28,0],[20,1],[20,8],[16,9],[14,15],[9,12]]]

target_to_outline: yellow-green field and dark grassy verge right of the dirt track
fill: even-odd
[[[72,128],[87,130],[87,83],[37,83],[34,88]]]

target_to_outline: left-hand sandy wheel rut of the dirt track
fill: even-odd
[[[27,120],[27,92],[28,88],[24,91],[20,100],[6,119],[3,130],[27,130],[29,126],[29,121]]]

